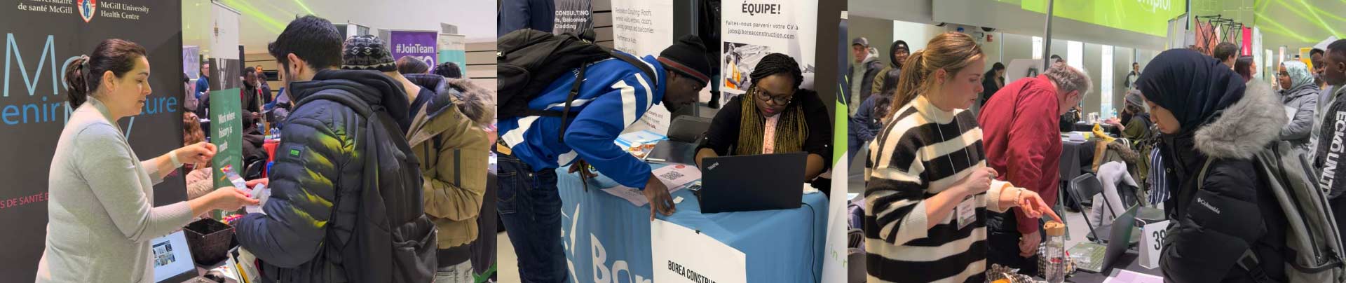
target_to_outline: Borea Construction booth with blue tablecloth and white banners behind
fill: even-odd
[[[557,4],[556,32],[563,32],[563,15]],[[680,35],[674,19],[678,1],[673,0],[612,0],[612,47],[638,57],[658,55]],[[824,27],[820,19],[837,20],[840,8],[820,15],[820,3],[813,0],[769,0],[760,4],[721,4],[721,90],[727,96],[742,94],[748,88],[752,67],[770,53],[782,53],[800,62],[805,82],[813,88],[816,66],[814,50],[821,44],[837,44],[832,39],[839,31],[836,23]],[[826,43],[818,38],[836,36]],[[604,38],[602,34],[599,38]],[[602,42],[602,40],[600,40]],[[843,54],[844,44],[830,53]],[[829,55],[832,57],[832,55]],[[828,69],[844,69],[828,66]],[[835,70],[833,70],[835,71]],[[840,80],[840,78],[836,78]],[[821,81],[821,80],[820,80]],[[833,78],[825,80],[832,85]],[[713,84],[713,82],[712,82]],[[818,89],[824,92],[824,89]],[[832,89],[825,89],[830,93]],[[832,96],[840,97],[840,96]],[[832,100],[824,96],[824,101]],[[728,97],[724,98],[725,101]],[[845,109],[837,101],[836,109]],[[830,105],[830,104],[829,104]],[[835,112],[835,127],[845,123],[845,111]],[[673,124],[672,115],[656,106],[627,128],[630,135],[666,135]],[[651,135],[653,133],[653,135]],[[837,143],[844,144],[845,132]],[[627,136],[627,135],[623,135]],[[621,139],[619,139],[621,140]],[[845,148],[833,150],[844,155]],[[688,152],[689,154],[689,152]],[[828,156],[829,162],[847,160]],[[666,166],[692,164],[650,163],[656,170]],[[841,174],[844,175],[845,170]],[[661,174],[661,172],[656,172]],[[845,260],[841,234],[828,233],[832,222],[840,220],[844,193],[835,203],[820,191],[805,193],[797,209],[755,212],[703,213],[699,198],[689,189],[672,193],[677,212],[650,221],[649,203],[633,189],[619,187],[606,177],[581,181],[567,168],[557,170],[557,189],[561,197],[561,241],[565,248],[568,272],[576,282],[835,282],[845,275],[839,272]],[[696,178],[692,178],[696,179]],[[835,178],[835,191],[845,190],[845,178]],[[669,183],[669,187],[690,185],[692,181]],[[808,185],[802,185],[808,186]],[[802,189],[802,186],[800,189]],[[781,190],[798,190],[781,187]],[[835,208],[835,209],[833,209]],[[836,213],[829,213],[836,212]],[[837,220],[832,220],[836,216]],[[843,224],[844,225],[844,224]],[[844,233],[844,232],[841,232]],[[829,243],[839,251],[829,249]],[[828,253],[835,253],[829,256]],[[833,259],[833,260],[826,260]],[[825,265],[835,265],[832,271]],[[833,280],[825,280],[830,276]]]

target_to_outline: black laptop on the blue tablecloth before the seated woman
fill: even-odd
[[[806,152],[707,158],[701,213],[798,209],[806,163]]]

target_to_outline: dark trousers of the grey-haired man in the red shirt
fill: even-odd
[[[1019,274],[1038,275],[1038,253],[1034,252],[1032,257],[1019,256],[1019,239],[1023,234],[1018,226],[1019,220],[1014,217],[1014,212],[987,212],[987,268],[1000,264],[1019,268]],[[1038,236],[1043,233],[1039,232]]]

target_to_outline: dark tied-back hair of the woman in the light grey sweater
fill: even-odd
[[[104,39],[93,49],[93,55],[81,55],[66,65],[66,101],[79,108],[102,84],[102,74],[112,71],[118,78],[136,69],[136,59],[145,57],[145,47],[121,39]]]

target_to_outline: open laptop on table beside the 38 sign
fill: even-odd
[[[1131,234],[1136,226],[1136,210],[1140,206],[1131,206],[1125,213],[1112,222],[1112,239],[1108,245],[1098,243],[1079,243],[1070,247],[1070,257],[1075,260],[1075,267],[1081,271],[1094,274],[1109,274],[1112,268],[1131,248]]]

